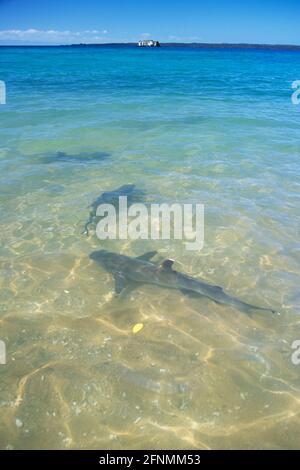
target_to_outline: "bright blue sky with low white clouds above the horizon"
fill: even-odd
[[[300,45],[300,0],[0,0],[0,44]]]

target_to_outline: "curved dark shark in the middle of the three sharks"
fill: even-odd
[[[101,193],[89,206],[90,214],[83,229],[84,235],[89,235],[89,226],[97,220],[97,208],[100,204],[112,204],[116,209],[119,205],[119,197],[126,196],[127,203],[132,204],[138,202],[144,196],[144,191],[137,189],[134,184],[124,184],[112,191],[105,191]]]

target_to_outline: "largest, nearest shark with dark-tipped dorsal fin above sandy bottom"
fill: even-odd
[[[132,290],[142,284],[154,284],[168,289],[180,290],[184,294],[205,296],[214,302],[229,305],[247,314],[251,314],[255,310],[276,313],[270,308],[257,307],[232,297],[219,286],[175,271],[173,269],[174,261],[171,259],[166,259],[159,265],[151,262],[156,254],[156,251],[151,251],[137,258],[130,258],[118,253],[99,250],[93,251],[90,258],[113,275],[116,294]]]

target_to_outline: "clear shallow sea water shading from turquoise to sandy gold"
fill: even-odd
[[[300,54],[0,48],[0,79],[0,447],[299,447]],[[203,250],[83,236],[127,183],[203,203]],[[116,299],[100,247],[158,250],[280,315]]]

